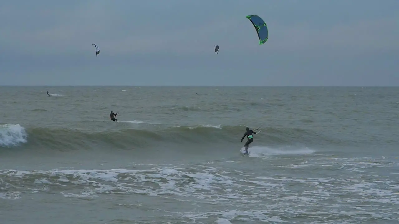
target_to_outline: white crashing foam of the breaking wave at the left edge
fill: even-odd
[[[13,147],[20,143],[26,143],[28,134],[19,124],[0,125],[0,146]]]

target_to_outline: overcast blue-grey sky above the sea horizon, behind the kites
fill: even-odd
[[[398,0],[1,1],[0,85],[399,86],[398,8]],[[263,45],[249,14],[267,23]]]

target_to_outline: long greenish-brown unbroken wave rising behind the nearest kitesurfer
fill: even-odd
[[[19,147],[69,151],[74,149],[134,149],[162,145],[190,145],[207,143],[239,143],[245,126],[177,126],[159,129],[119,129],[85,132],[65,128],[28,128],[26,142]],[[246,141],[246,139],[244,139]],[[292,145],[303,143],[334,144],[338,140],[327,138],[312,130],[300,128],[265,128],[255,135],[257,143]]]

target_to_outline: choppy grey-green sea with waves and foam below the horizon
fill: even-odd
[[[399,223],[399,87],[0,86],[0,105],[1,224]]]

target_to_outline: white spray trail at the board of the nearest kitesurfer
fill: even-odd
[[[241,153],[244,152],[244,147],[241,148]],[[249,157],[265,157],[270,155],[303,155],[314,153],[315,150],[309,149],[307,147],[298,149],[273,149],[267,146],[253,146],[249,147],[248,153]]]

